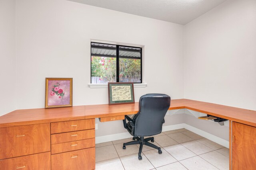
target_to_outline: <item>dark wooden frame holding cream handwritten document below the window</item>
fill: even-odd
[[[108,104],[134,103],[134,87],[132,82],[109,82]]]

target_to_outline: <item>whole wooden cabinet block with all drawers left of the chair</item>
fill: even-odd
[[[0,170],[14,169],[95,169],[95,119],[0,128]]]

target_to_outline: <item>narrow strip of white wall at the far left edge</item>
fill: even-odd
[[[15,8],[15,0],[0,0],[0,116],[16,109]]]

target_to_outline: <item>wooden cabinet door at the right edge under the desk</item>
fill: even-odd
[[[256,127],[232,122],[232,170],[256,170]]]

